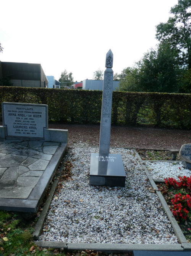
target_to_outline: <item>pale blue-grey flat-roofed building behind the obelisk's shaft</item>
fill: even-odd
[[[103,90],[104,80],[83,80],[83,90]],[[113,91],[119,87],[119,81],[113,81]]]

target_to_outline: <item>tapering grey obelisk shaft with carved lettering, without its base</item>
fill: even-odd
[[[112,116],[112,92],[113,92],[113,53],[111,50],[106,54],[104,72],[104,86],[102,94],[102,113],[100,125],[99,153],[109,154],[110,131]]]

